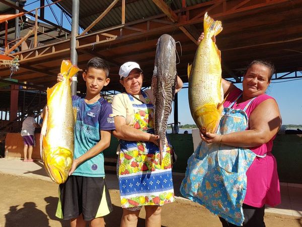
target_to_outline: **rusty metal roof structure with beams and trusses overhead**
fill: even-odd
[[[9,2],[12,1],[0,0],[0,4]],[[72,14],[72,1],[61,0],[56,4],[65,14]],[[104,89],[111,91],[121,89],[120,65],[136,61],[144,71],[143,85],[149,86],[157,39],[167,33],[180,42],[177,46],[177,70],[182,80],[187,82],[187,65],[193,62],[205,12],[215,20],[221,20],[223,25],[216,44],[221,50],[224,78],[240,81],[245,67],[255,59],[272,61],[277,73],[301,70],[302,0],[80,1],[79,24],[84,30],[89,29],[76,37],[78,65],[85,70],[92,57],[105,58],[111,66],[111,82]],[[99,22],[92,26],[96,20]],[[27,29],[30,29],[34,21],[27,23]],[[40,45],[33,47],[30,42],[34,37],[30,36],[28,48],[11,53],[20,58],[20,70],[11,78],[42,90],[55,84],[61,61],[70,58],[68,31],[58,30],[59,26],[44,22],[38,23],[38,31],[42,32],[43,26],[49,33],[38,32]],[[9,31],[13,35],[11,28]],[[3,32],[0,34],[3,37]],[[4,48],[0,44],[1,47]],[[0,67],[1,80],[10,75],[8,67]],[[78,91],[85,92],[81,78]]]

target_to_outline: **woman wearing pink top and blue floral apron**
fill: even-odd
[[[271,154],[281,116],[275,99],[265,94],[274,71],[268,62],[253,61],[243,90],[222,79],[226,100],[218,130],[206,137],[200,133],[203,143],[188,160],[181,193],[217,214],[223,227],[265,226],[265,204],[281,202]],[[242,129],[230,131],[239,121]]]

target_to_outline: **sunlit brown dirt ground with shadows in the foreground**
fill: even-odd
[[[54,183],[0,174],[0,227],[65,227],[68,221],[55,217],[58,186]],[[106,226],[119,226],[122,209],[117,190],[110,190],[113,212],[105,217]],[[137,226],[144,226],[141,210]],[[266,226],[302,226],[302,218],[266,213]],[[163,206],[162,226],[221,226],[217,216],[204,207],[178,199]]]

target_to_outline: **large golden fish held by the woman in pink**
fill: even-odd
[[[212,40],[222,31],[220,21],[205,13],[204,38],[199,43],[192,67],[188,67],[191,115],[203,135],[215,133],[223,110],[220,51]]]

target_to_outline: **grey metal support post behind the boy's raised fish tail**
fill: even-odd
[[[79,35],[79,9],[80,1],[72,0],[72,24],[71,24],[71,38],[70,38],[70,61],[73,65],[78,65],[77,53],[77,39]],[[74,75],[71,83],[71,95],[77,94],[77,76]]]

